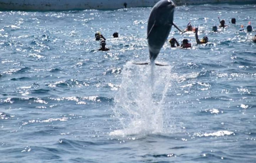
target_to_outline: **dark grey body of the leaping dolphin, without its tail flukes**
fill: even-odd
[[[147,24],[147,41],[149,45],[150,63],[154,63],[164,45],[173,23],[175,4],[171,0],[161,0],[152,8]]]

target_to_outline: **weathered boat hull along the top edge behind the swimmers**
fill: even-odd
[[[151,7],[159,0],[0,0],[0,10],[113,10],[130,7]],[[256,4],[256,0],[173,0],[177,6],[197,4]]]

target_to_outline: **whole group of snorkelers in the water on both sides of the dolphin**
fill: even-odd
[[[220,20],[219,17],[218,17],[218,19],[220,21],[220,25],[219,25],[220,28],[227,27],[227,25],[225,25],[225,20],[224,19]],[[232,18],[231,23],[235,24],[236,19]],[[251,26],[250,21],[249,21],[248,26],[247,26],[246,29],[247,29],[247,32],[252,32],[252,26]],[[217,32],[217,30],[218,30],[218,28],[217,28],[216,25],[212,27],[213,32]],[[198,28],[193,28],[192,25],[190,24],[190,22],[187,25],[186,31],[194,31],[195,32],[195,38],[196,38],[197,44],[203,44],[203,43],[208,42],[208,37],[207,36],[204,36],[201,40],[199,40],[198,34],[197,34],[198,33]],[[243,25],[241,25],[241,28],[240,28],[239,31],[244,31]],[[118,33],[117,32],[113,33],[113,37],[117,38]],[[100,34],[99,32],[96,32],[95,33],[95,40],[100,41],[99,51],[109,51],[109,48],[106,48],[106,38],[104,38],[104,36],[102,36],[102,34]],[[252,41],[256,43],[256,35],[252,38]],[[169,43],[171,44],[171,47],[191,48],[191,43],[189,43],[188,39],[183,39],[181,45],[179,45],[178,41],[175,38],[171,38],[169,40]]]

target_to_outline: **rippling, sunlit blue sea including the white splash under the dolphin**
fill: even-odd
[[[255,9],[177,7],[209,43],[172,28],[192,48],[166,41],[168,66],[132,64],[149,61],[151,8],[1,11],[0,162],[256,162],[256,32],[239,32]]]

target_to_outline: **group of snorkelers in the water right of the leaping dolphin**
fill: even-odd
[[[225,20],[222,19],[220,20],[220,18],[218,17],[219,21],[220,21],[220,28],[225,28],[227,27],[227,25],[225,25]],[[235,24],[236,23],[236,19],[232,18],[231,19],[231,23]],[[212,31],[213,32],[217,32],[218,28],[217,26],[213,26],[212,27]],[[204,36],[201,40],[198,39],[198,28],[193,28],[192,25],[190,24],[190,22],[187,25],[186,31],[194,31],[195,32],[195,38],[196,38],[196,42],[197,44],[203,44],[203,43],[207,43],[208,42],[208,37]],[[241,25],[241,28],[239,31],[244,31],[243,29],[243,25]],[[252,26],[251,26],[251,22],[249,21],[248,26],[247,26],[247,32],[252,32]],[[256,35],[252,38],[252,41],[256,43]],[[191,48],[191,43],[189,43],[188,39],[183,39],[182,40],[182,44],[179,45],[178,41],[175,38],[171,38],[169,40],[169,43],[171,44],[171,47],[180,47],[180,48]],[[175,45],[176,44],[176,45]]]

